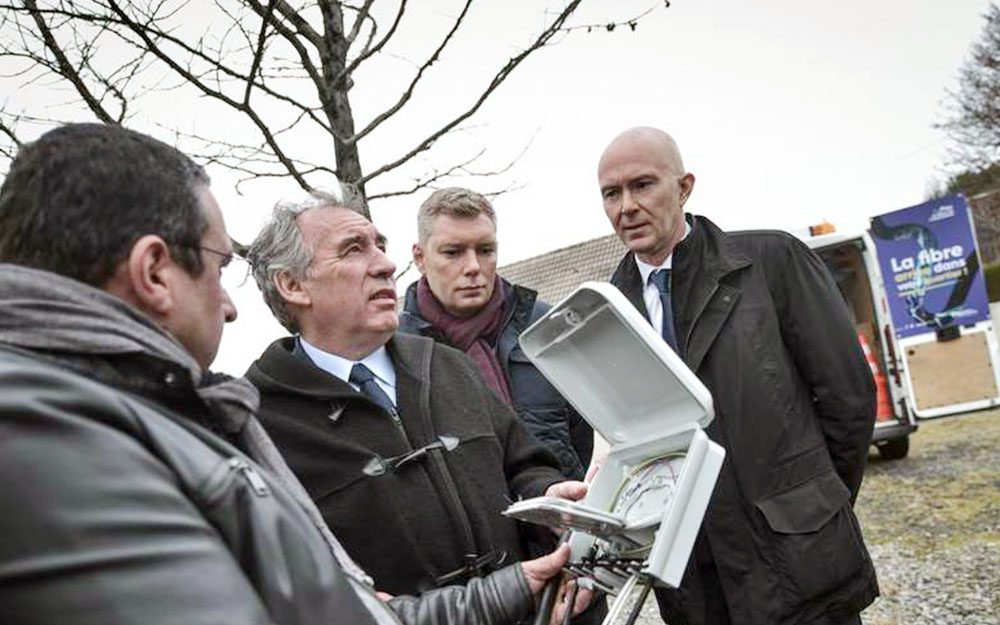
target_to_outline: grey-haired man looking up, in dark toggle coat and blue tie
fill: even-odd
[[[250,247],[292,333],[247,372],[261,421],[379,589],[475,579],[525,556],[500,514],[513,500],[578,499],[586,485],[565,480],[468,356],[396,332],[396,267],[353,206],[279,205]]]

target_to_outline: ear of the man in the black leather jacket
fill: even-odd
[[[118,267],[105,290],[160,321],[177,301],[176,280],[184,269],[170,256],[170,246],[161,237],[140,237]]]

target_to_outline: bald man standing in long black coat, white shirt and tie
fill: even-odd
[[[726,448],[681,588],[657,593],[664,621],[860,624],[878,595],[852,509],[875,391],[825,266],[786,233],[686,215],[695,177],[660,130],[616,137],[598,182],[629,249],[611,282],[711,391]]]

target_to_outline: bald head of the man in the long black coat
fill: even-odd
[[[684,203],[694,176],[662,130],[631,128],[605,148],[597,166],[604,212],[640,260],[661,264],[684,236]]]

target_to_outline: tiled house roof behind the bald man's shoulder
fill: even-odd
[[[609,234],[504,265],[497,273],[538,291],[542,301],[555,304],[583,282],[607,282],[626,251],[618,235]]]

